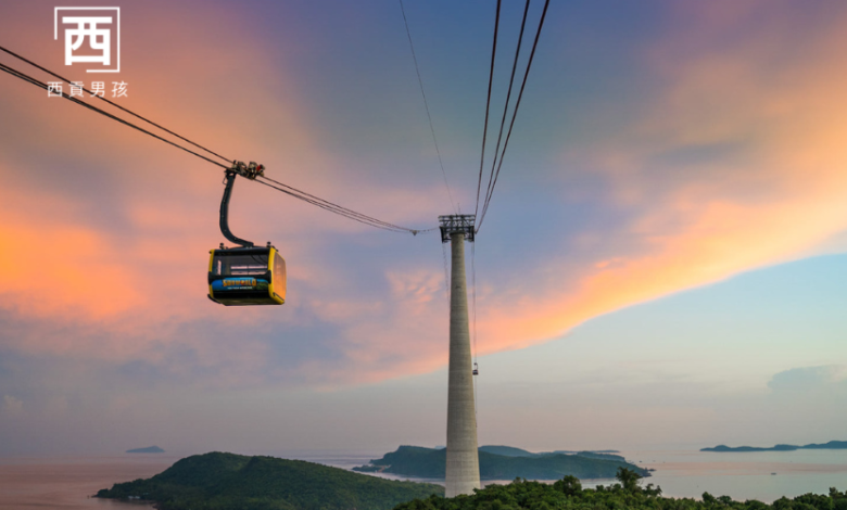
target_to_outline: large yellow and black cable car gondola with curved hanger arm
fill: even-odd
[[[286,303],[286,260],[267,243],[256,247],[229,230],[229,197],[237,176],[255,180],[265,167],[251,162],[233,162],[226,170],[226,188],[220,200],[220,232],[239,247],[211,250],[208,257],[208,298],[226,306],[282,305]]]

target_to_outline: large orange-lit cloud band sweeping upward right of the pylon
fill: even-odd
[[[586,167],[607,173],[616,202],[640,211],[627,233],[646,247],[568,275],[561,292],[517,306],[486,298],[485,352],[530,345],[622,306],[812,254],[847,228],[847,117],[838,114],[847,111],[844,16],[824,22],[826,29],[787,59],[782,51],[797,41],[776,21],[763,30],[745,26],[736,46],[709,48],[704,39],[715,46],[728,24],[761,10],[697,5],[678,13],[699,20],[697,29],[687,31],[691,20],[672,24],[685,34],[671,30],[647,52],[663,77],[650,110],[583,154],[592,162]],[[673,165],[658,158],[721,145],[737,150]]]

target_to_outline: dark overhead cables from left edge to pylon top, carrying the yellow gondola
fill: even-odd
[[[15,53],[12,53],[11,51],[7,50],[5,48],[0,47],[0,50],[3,50],[3,51],[5,51],[9,54],[12,54],[12,55],[14,55],[14,56],[16,56],[16,58],[18,58],[18,59],[21,59],[21,60],[31,64],[33,66],[35,66],[35,67],[37,67],[39,69],[45,71],[46,73],[50,74],[51,76],[59,77],[59,79],[62,79],[65,82],[71,84],[71,81],[60,77],[59,75],[56,75],[56,74],[54,74],[54,73],[52,73],[52,72],[50,72],[48,69],[45,69],[43,67],[39,66],[38,64],[33,63],[31,61],[28,61],[28,60],[26,60],[26,59],[24,59],[24,58],[22,58],[22,56],[20,56],[17,54],[15,54]],[[149,131],[149,130],[147,130],[147,129],[144,129],[144,128],[142,128],[140,126],[137,126],[137,125],[132,124],[131,122],[129,122],[129,120],[127,120],[125,118],[121,118],[121,117],[118,117],[118,116],[116,116],[116,115],[114,115],[112,113],[109,113],[109,112],[106,112],[106,111],[104,111],[102,109],[99,109],[99,107],[94,106],[93,104],[90,104],[90,103],[88,103],[86,101],[83,101],[83,100],[79,100],[77,98],[74,98],[74,97],[72,97],[69,94],[64,93],[63,91],[55,90],[53,87],[51,87],[47,82],[41,81],[41,80],[39,80],[37,78],[34,78],[34,77],[31,77],[31,76],[29,76],[29,75],[27,75],[27,74],[25,74],[23,72],[20,72],[17,69],[13,68],[13,67],[10,67],[10,66],[8,66],[5,64],[0,63],[0,71],[3,71],[3,72],[5,72],[5,73],[8,73],[8,74],[10,74],[10,75],[12,75],[12,76],[14,76],[16,78],[20,78],[20,79],[28,82],[28,84],[35,85],[36,87],[45,89],[48,92],[52,92],[54,94],[60,94],[62,98],[64,98],[64,99],[66,99],[68,101],[72,101],[72,102],[74,102],[74,103],[76,103],[76,104],[78,104],[80,106],[84,106],[84,107],[86,107],[86,109],[88,109],[88,110],[90,110],[92,112],[99,113],[99,114],[101,114],[101,115],[103,115],[105,117],[109,117],[109,118],[111,118],[113,120],[116,120],[116,122],[118,122],[118,123],[121,123],[121,124],[123,124],[125,126],[128,126],[128,127],[130,127],[132,129],[136,129],[136,130],[138,130],[140,132],[143,132],[144,135],[149,135],[149,136],[157,139],[157,140],[161,140],[161,141],[167,143],[168,145],[175,146],[177,149],[181,149],[182,151],[186,151],[189,154],[193,154],[193,155],[195,155],[195,156],[198,156],[198,157],[200,157],[200,158],[202,158],[202,160],[204,160],[204,161],[206,161],[206,162],[208,162],[208,163],[211,163],[213,165],[219,166],[219,167],[222,167],[224,169],[229,169],[230,168],[229,165],[224,165],[224,164],[220,164],[220,163],[218,163],[218,162],[216,162],[214,160],[211,160],[210,157],[206,157],[203,154],[194,152],[191,149],[182,146],[182,145],[180,145],[180,144],[178,144],[178,143],[176,143],[174,141],[167,140],[166,138],[163,138],[163,137],[161,137],[161,136],[159,136],[159,135],[156,135],[154,132],[151,132],[151,131]],[[88,90],[86,90],[86,92],[91,93]],[[97,95],[97,97],[99,97],[99,95]],[[103,98],[101,98],[101,99],[103,99]],[[106,102],[109,102],[110,104],[115,105],[112,101],[106,100]],[[115,105],[115,106],[117,106],[117,105]],[[184,137],[180,137],[180,136],[174,133],[173,131],[170,131],[168,129],[165,129],[162,126],[160,126],[160,125],[157,125],[157,124],[155,124],[155,123],[153,123],[151,120],[148,120],[144,117],[141,117],[140,115],[138,115],[138,114],[135,114],[134,112],[130,112],[129,110],[126,110],[126,109],[124,109],[122,106],[117,106],[117,107],[121,109],[124,112],[127,112],[127,113],[138,117],[138,118],[143,119],[144,122],[147,122],[147,123],[149,123],[149,124],[151,124],[151,125],[153,125],[153,126],[155,126],[155,127],[157,127],[157,128],[160,128],[160,129],[162,129],[162,130],[164,130],[164,131],[166,131],[168,133],[172,133],[172,135],[182,139],[185,141],[188,141],[192,145],[195,145],[195,146],[198,146],[200,149],[203,149],[204,151],[208,152],[210,154],[216,155],[216,156],[218,156],[218,157],[220,157],[220,158],[223,158],[225,161],[228,161],[225,157],[218,155],[217,153],[215,153],[213,151],[210,151],[210,150],[207,150],[205,148],[202,148],[201,145],[198,145],[197,143],[191,142],[190,140],[188,140],[188,139],[184,138]],[[361,224],[368,225],[370,227],[380,228],[380,229],[383,229],[383,230],[390,230],[390,231],[394,231],[394,232],[408,232],[408,233],[412,233],[413,235],[417,235],[418,233],[430,232],[430,231],[433,231],[433,230],[438,229],[438,227],[433,227],[433,228],[425,229],[425,230],[410,229],[410,228],[406,228],[406,227],[401,227],[401,226],[397,226],[397,225],[394,225],[394,224],[390,224],[388,221],[382,221],[382,220],[374,218],[371,216],[364,215],[362,213],[357,213],[357,212],[355,212],[353,209],[349,209],[346,207],[340,206],[338,204],[334,204],[334,203],[329,202],[327,200],[320,199],[320,197],[315,196],[315,195],[313,195],[311,193],[306,193],[304,191],[298,190],[296,188],[290,187],[290,186],[285,184],[282,182],[276,181],[274,179],[270,179],[270,178],[267,178],[267,177],[264,177],[264,176],[262,177],[262,179],[264,179],[265,181],[258,181],[258,182],[261,182],[261,183],[263,183],[265,186],[268,186],[270,188],[274,188],[277,191],[281,191],[281,192],[288,194],[289,196],[302,200],[302,201],[304,201],[306,203],[309,203],[312,205],[320,207],[320,208],[323,208],[325,211],[328,211],[330,213],[338,214],[338,215],[343,216],[343,217],[345,217],[347,219],[352,219],[352,220],[358,221]]]

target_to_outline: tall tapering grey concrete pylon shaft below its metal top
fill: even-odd
[[[472,227],[471,227],[472,228]],[[471,230],[472,232],[472,230]],[[450,231],[450,379],[447,388],[447,476],[445,496],[480,488],[477,411],[468,328],[464,231]],[[472,239],[472,238],[471,238]]]

